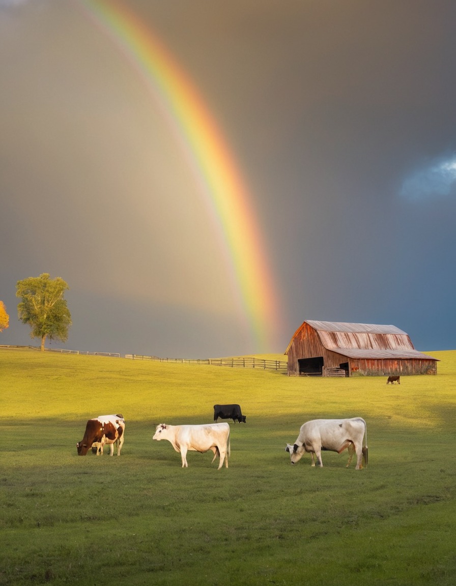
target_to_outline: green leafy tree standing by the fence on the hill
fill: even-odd
[[[68,288],[62,278],[50,279],[47,272],[16,284],[16,297],[22,297],[18,304],[18,317],[32,328],[30,338],[41,338],[42,352],[46,338],[61,342],[68,339],[72,318],[63,298]]]

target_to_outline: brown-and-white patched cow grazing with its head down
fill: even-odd
[[[114,444],[117,444],[117,455],[120,456],[125,435],[125,420],[122,415],[99,415],[89,419],[84,437],[77,442],[77,453],[85,456],[90,448],[98,455],[103,455],[103,446],[110,447],[110,455],[114,455]]]

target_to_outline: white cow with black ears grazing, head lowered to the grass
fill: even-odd
[[[341,454],[348,448],[347,468],[356,452],[356,470],[360,470],[362,460],[367,466],[367,427],[362,417],[351,419],[314,419],[301,425],[300,434],[294,445],[287,444],[285,452],[290,453],[291,464],[296,464],[304,452],[312,454],[312,466],[323,467],[321,451],[338,452]]]

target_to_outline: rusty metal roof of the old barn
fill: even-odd
[[[306,319],[295,335],[302,329],[304,323],[317,331],[322,345],[327,350],[350,358],[436,360],[432,356],[415,350],[409,335],[393,325],[321,322]],[[285,354],[288,353],[292,340]]]

